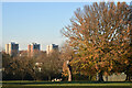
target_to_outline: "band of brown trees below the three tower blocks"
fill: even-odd
[[[46,56],[41,53],[37,57],[15,56],[2,54],[3,79],[6,80],[42,80],[58,77],[62,73],[59,52],[55,51]]]

